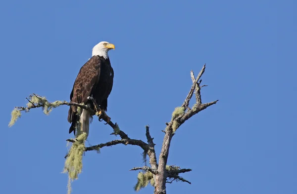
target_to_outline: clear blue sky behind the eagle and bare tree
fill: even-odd
[[[115,72],[108,115],[131,138],[145,125],[160,152],[165,122],[206,63],[202,102],[219,99],[182,125],[168,164],[193,171],[170,194],[296,194],[297,2],[20,1],[0,3],[3,194],[65,194],[68,107],[24,114],[31,93],[69,100],[74,79],[99,41]],[[89,143],[115,138],[94,121]],[[134,193],[142,150],[118,145],[87,152],[73,194]],[[151,194],[148,186],[140,194]]]

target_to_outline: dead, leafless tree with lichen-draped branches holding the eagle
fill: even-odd
[[[153,138],[149,134],[149,126],[146,126],[146,137],[147,140],[142,141],[142,140],[137,140],[137,139],[131,139],[124,131],[120,130],[119,126],[116,123],[113,123],[110,118],[105,114],[105,115],[98,115],[98,112],[100,111],[100,108],[96,104],[96,102],[93,100],[92,97],[89,97],[89,99],[93,100],[93,103],[95,105],[95,110],[91,110],[93,112],[93,115],[99,116],[99,119],[103,119],[107,124],[113,129],[112,135],[119,135],[120,139],[116,139],[107,143],[102,143],[98,144],[96,146],[91,146],[91,147],[85,147],[85,144],[81,144],[81,154],[84,152],[88,151],[93,151],[103,148],[103,147],[108,147],[108,146],[113,146],[117,144],[124,144],[124,145],[134,145],[134,146],[139,146],[143,149],[144,151],[144,158],[148,156],[149,160],[149,166],[142,166],[142,167],[135,167],[132,168],[131,170],[143,170],[143,172],[140,172],[138,175],[138,183],[135,186],[135,190],[139,191],[140,189],[146,187],[148,183],[150,183],[154,187],[154,194],[166,194],[166,183],[172,183],[173,181],[182,181],[191,184],[188,180],[185,180],[180,176],[181,173],[189,172],[191,169],[184,169],[180,168],[179,166],[169,166],[167,165],[167,158],[169,155],[169,148],[170,148],[170,143],[171,140],[175,134],[175,131],[189,118],[192,116],[196,115],[200,111],[206,109],[207,107],[216,104],[216,101],[209,102],[209,103],[202,103],[201,101],[201,93],[200,90],[202,87],[207,86],[207,85],[202,85],[201,84],[201,76],[205,71],[205,64],[202,67],[201,71],[198,74],[198,77],[195,78],[193,71],[191,71],[191,78],[193,85],[183,102],[183,104],[180,107],[176,107],[174,112],[172,113],[172,117],[170,122],[166,122],[166,127],[164,132],[164,139],[162,143],[162,148],[161,148],[161,153],[159,154],[159,159],[157,162],[157,157],[155,153],[154,146],[155,144],[153,143]],[[190,100],[195,93],[196,97],[196,103],[192,108],[189,107]],[[11,113],[11,121],[9,123],[9,126],[13,125],[14,122],[18,117],[21,116],[21,111],[24,112],[29,112],[30,109],[33,108],[39,108],[41,107],[44,111],[45,114],[49,114],[49,112],[52,110],[52,108],[61,106],[61,105],[74,105],[79,107],[80,109],[90,109],[88,106],[84,104],[77,104],[74,102],[67,102],[67,101],[55,101],[50,103],[45,97],[39,96],[37,94],[32,94],[30,95],[29,98],[27,98],[28,104],[26,107],[16,107],[12,113]],[[80,141],[78,138],[78,135],[76,136],[75,139],[68,139],[66,140],[68,142],[71,142],[73,144],[77,143]],[[69,153],[68,153],[69,154]],[[65,158],[69,156],[66,155]],[[78,161],[81,162],[81,161]],[[79,165],[79,164],[75,164]],[[78,167],[79,168],[79,167]],[[69,169],[66,169],[66,171]],[[77,175],[81,172],[81,169],[78,169],[75,171],[75,175],[72,176],[72,179],[76,179]],[[70,179],[69,179],[70,180]],[[70,190],[69,192],[70,193]]]

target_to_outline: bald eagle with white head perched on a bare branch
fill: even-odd
[[[81,67],[70,94],[70,101],[84,103],[94,109],[92,101],[88,100],[92,96],[100,109],[107,111],[107,98],[113,85],[113,69],[110,65],[108,51],[114,49],[114,45],[102,41],[92,49],[92,58]],[[71,123],[69,134],[73,131],[75,135],[75,125],[80,120],[82,131],[89,134],[90,110],[84,109],[81,116],[77,114],[77,107],[70,106],[68,111],[68,122]]]

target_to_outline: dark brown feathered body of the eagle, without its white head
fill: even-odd
[[[100,106],[100,109],[107,111],[107,98],[111,92],[112,85],[113,69],[109,58],[105,59],[98,55],[93,56],[80,69],[70,94],[70,100],[71,102],[84,103],[94,107],[92,101],[88,100],[88,97],[92,96]],[[71,123],[69,133],[73,131],[75,134],[75,124],[79,119],[77,108],[70,106],[68,112],[68,122]]]

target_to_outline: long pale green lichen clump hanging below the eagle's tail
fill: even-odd
[[[83,154],[86,150],[85,142],[87,134],[82,133],[73,142],[68,156],[65,160],[63,173],[68,173],[68,194],[71,192],[71,181],[78,179],[78,175],[82,172],[83,168]]]

